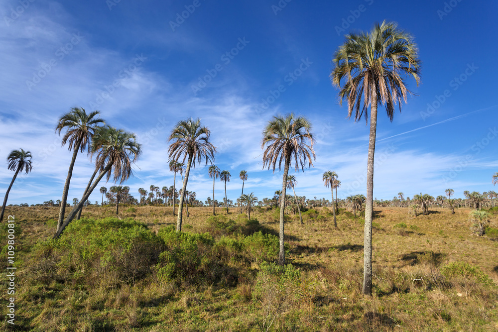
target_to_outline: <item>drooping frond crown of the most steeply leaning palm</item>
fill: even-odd
[[[92,151],[97,153],[95,165],[103,170],[112,165],[107,173],[107,181],[114,170],[114,181],[120,183],[133,175],[131,164],[141,155],[141,144],[136,142],[136,135],[123,129],[105,127],[95,133]]]

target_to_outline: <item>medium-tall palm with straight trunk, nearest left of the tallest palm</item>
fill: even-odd
[[[315,151],[313,143],[315,139],[311,133],[311,122],[303,116],[288,114],[285,116],[274,116],[273,120],[268,121],[263,130],[263,139],[261,148],[263,152],[263,168],[268,165],[275,172],[278,163],[278,170],[281,169],[282,161],[284,162],[284,171],[282,179],[282,193],[280,194],[280,229],[279,242],[280,253],[278,264],[285,264],[284,252],[284,211],[285,211],[285,189],[287,188],[287,175],[292,158],[295,161],[295,169],[304,172],[306,163],[311,167],[315,160]]]

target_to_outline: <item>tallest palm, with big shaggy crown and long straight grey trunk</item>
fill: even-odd
[[[335,67],[330,77],[339,87],[340,104],[348,102],[348,115],[355,111],[355,121],[365,115],[371,106],[370,142],[367,163],[367,202],[364,234],[363,294],[372,295],[372,216],[373,216],[373,155],[377,125],[377,106],[385,105],[392,121],[394,105],[406,102],[407,94],[402,76],[420,82],[420,61],[413,37],[398,29],[396,23],[375,23],[370,33],[350,33],[334,55]],[[343,86],[341,87],[341,82]],[[363,98],[363,103],[362,103]]]

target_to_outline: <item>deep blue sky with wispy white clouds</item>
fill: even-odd
[[[14,173],[7,155],[23,148],[33,170],[18,176],[8,204],[61,199],[72,152],[55,125],[79,107],[137,135],[143,154],[124,183],[135,198],[138,188],[173,184],[168,136],[188,117],[211,130],[215,164],[232,175],[229,199],[241,194],[241,170],[245,193],[273,197],[283,171],[263,170],[261,133],[290,112],[306,116],[316,137],[313,167],[290,172],[296,194],[330,199],[328,170],[342,182],[339,198],[366,194],[370,126],[347,118],[329,74],[344,35],[383,20],[415,37],[422,67],[392,122],[379,107],[373,196],[494,190],[497,13],[498,2],[483,0],[0,1],[0,191]],[[188,181],[202,201],[213,196],[208,166],[196,164]],[[69,202],[92,173],[79,154]],[[100,203],[98,190],[90,201]]]

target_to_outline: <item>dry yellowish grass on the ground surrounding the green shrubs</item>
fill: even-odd
[[[152,231],[176,224],[172,208],[120,206],[120,217],[145,223]],[[326,209],[318,219],[298,216],[286,223],[290,244],[287,262],[301,271],[295,293],[301,298],[285,307],[269,331],[498,331],[498,242],[472,235],[470,210],[451,215],[431,209],[428,216],[409,216],[407,208],[376,208],[373,231],[373,297],[361,294],[363,220],[338,215],[338,228]],[[85,208],[83,217],[114,215],[115,207]],[[329,211],[331,212],[331,211]],[[184,211],[186,213],[186,211]],[[183,229],[204,232],[212,208],[189,208]],[[152,275],[134,286],[93,289],[29,275],[30,248],[55,231],[58,208],[7,207],[22,228],[16,249],[24,260],[16,293],[19,329],[24,331],[260,331],[264,308],[254,301],[255,273],[235,286],[185,286],[160,283]],[[226,215],[224,208],[217,214]],[[230,209],[231,219],[242,219]],[[278,232],[275,214],[253,218]],[[405,223],[406,228],[395,227]],[[496,222],[496,221],[495,221]],[[427,255],[440,253],[440,264],[467,262],[492,280],[446,280]],[[254,266],[255,267],[255,266]],[[3,273],[3,271],[2,271]],[[251,277],[252,276],[252,277]],[[2,277],[2,280],[5,280]],[[5,283],[0,292],[5,294]],[[0,324],[0,328],[7,323]]]

